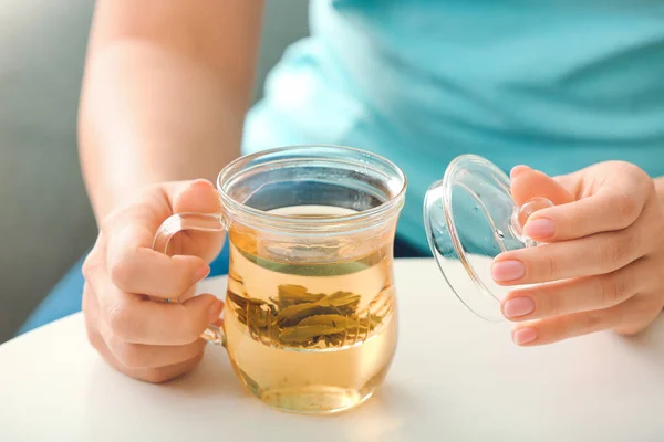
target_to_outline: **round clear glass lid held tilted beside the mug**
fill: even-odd
[[[535,198],[518,207],[507,175],[475,155],[457,157],[428,189],[424,223],[429,246],[456,296],[476,315],[504,319],[500,301],[515,287],[494,282],[491,262],[502,252],[537,245],[522,227],[531,213],[551,206]]]

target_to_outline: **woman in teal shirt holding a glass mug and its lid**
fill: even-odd
[[[515,343],[631,334],[656,317],[664,181],[651,177],[664,175],[662,6],[315,0],[310,8],[312,36],[287,51],[243,120],[260,1],[97,2],[80,146],[101,232],[83,266],[83,312],[108,364],[164,381],[200,360],[198,336],[221,302],[203,295],[167,305],[143,295],[186,293],[210,272],[222,240],[191,234],[178,244],[188,256],[174,259],[149,245],[173,212],[219,211],[211,185],[191,180],[212,179],[240,145],[251,152],[326,143],[391,158],[409,180],[400,250],[415,254],[426,253],[424,191],[457,155],[559,176],[512,170],[517,199],[567,202],[526,227],[549,245],[494,263],[501,284],[544,283],[504,302]]]

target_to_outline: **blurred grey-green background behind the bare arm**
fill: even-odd
[[[255,101],[284,48],[308,33],[308,0],[267,3]],[[92,0],[0,2],[0,344],[96,235],[76,150],[93,9]]]

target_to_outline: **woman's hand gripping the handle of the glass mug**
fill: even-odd
[[[221,250],[222,234],[181,232],[170,242],[173,257],[152,250],[160,223],[176,212],[219,213],[217,191],[205,180],[146,188],[105,219],[83,265],[91,344],[117,370],[149,382],[198,365],[200,335],[224,307],[212,295],[194,296]]]

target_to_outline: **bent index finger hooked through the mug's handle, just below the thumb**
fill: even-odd
[[[210,267],[198,256],[167,256],[152,250],[152,236],[134,220],[110,232],[106,264],[120,290],[177,298],[208,275]]]

